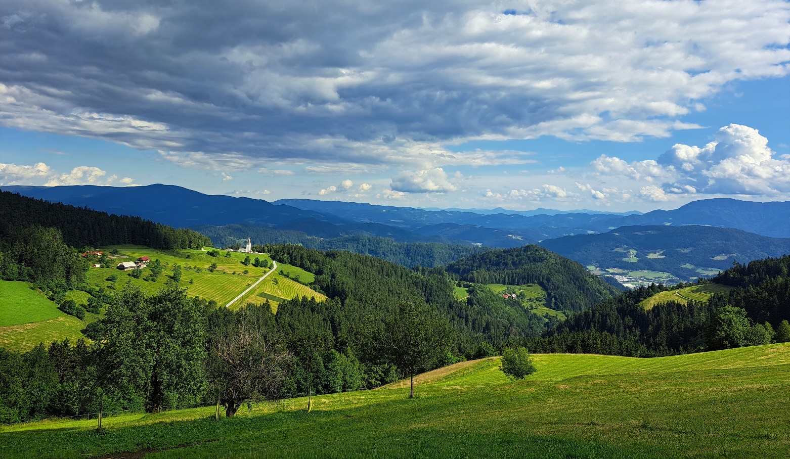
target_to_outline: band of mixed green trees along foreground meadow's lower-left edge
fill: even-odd
[[[234,311],[189,298],[172,282],[154,295],[127,286],[88,325],[92,344],[0,348],[0,423],[100,409],[160,412],[218,399],[232,416],[247,402],[373,388],[408,376],[381,342],[382,323],[369,326],[363,318],[338,333],[348,325],[335,320],[342,307],[302,298],[280,304],[276,315],[268,304]],[[442,355],[412,371],[457,362],[444,333],[440,343],[429,352]]]

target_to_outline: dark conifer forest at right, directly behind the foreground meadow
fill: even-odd
[[[643,300],[668,288],[637,288],[574,314],[528,345],[533,352],[646,357],[790,341],[788,271],[790,256],[736,264],[713,278],[735,288],[707,304],[670,300],[645,310]]]

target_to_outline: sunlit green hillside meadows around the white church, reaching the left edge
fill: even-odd
[[[226,252],[219,250],[219,256],[212,257],[208,254],[210,250],[208,247],[206,250],[155,250],[145,246],[122,245],[103,247],[103,250],[107,250],[107,253],[118,250],[119,253],[110,255],[114,257],[109,259],[111,267],[88,269],[87,281],[94,288],[117,291],[126,284],[134,284],[144,292],[152,294],[164,287],[173,274],[175,265],[179,265],[182,273],[180,283],[182,288],[186,288],[189,295],[213,299],[220,306],[228,304],[269,272],[269,268],[243,265],[242,261],[247,254],[231,252],[231,256],[226,257]],[[121,261],[134,261],[142,256],[149,257],[152,261],[158,259],[162,263],[163,273],[156,281],[145,278],[150,273],[148,268],[142,270],[140,279],[131,277],[129,271],[124,272],[115,268]],[[269,261],[271,265],[272,260],[268,255],[250,255],[253,260],[256,257]],[[216,263],[213,273],[209,272],[209,265],[212,263]],[[276,272],[279,273],[280,269],[284,274],[288,274],[288,277],[276,273],[270,274],[232,307],[238,309],[247,302],[264,303],[269,299],[273,310],[276,311],[277,305],[283,299],[303,295],[325,299],[324,295],[292,280],[298,276],[299,280],[311,283],[315,279],[312,273],[292,265],[277,263]],[[245,270],[247,273],[244,273]],[[115,276],[115,281],[108,280],[112,276]],[[86,292],[72,290],[67,292],[66,299],[73,299],[77,304],[84,305],[88,303],[88,296]],[[85,321],[81,321],[63,314],[54,302],[35,288],[31,288],[30,284],[0,280],[0,347],[2,348],[24,352],[41,342],[48,344],[52,340],[63,338],[74,341],[85,337],[81,330],[98,317],[97,314],[86,313]]]

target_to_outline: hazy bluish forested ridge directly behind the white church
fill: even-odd
[[[345,235],[322,239],[302,231],[231,224],[226,226],[201,225],[196,231],[211,238],[214,246],[229,247],[242,243],[247,237],[254,244],[301,244],[317,250],[348,250],[356,254],[371,255],[392,261],[408,268],[413,266],[442,266],[451,261],[480,254],[488,248],[445,243],[404,243],[373,235]]]

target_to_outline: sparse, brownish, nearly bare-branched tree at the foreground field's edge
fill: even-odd
[[[209,374],[220,389],[225,416],[245,401],[280,397],[288,383],[293,356],[276,330],[271,310],[250,307],[215,330],[209,351]]]

